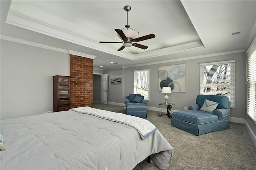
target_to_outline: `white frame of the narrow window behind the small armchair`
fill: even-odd
[[[137,73],[139,73],[139,72],[142,72],[142,71],[147,71],[148,72],[148,74],[147,74],[147,76],[146,77],[144,77],[144,78],[146,78],[147,79],[147,83],[145,83],[145,84],[141,84],[140,82],[138,82],[138,79],[140,78],[140,77],[137,77]],[[133,93],[134,94],[136,94],[137,93],[137,86],[138,85],[142,85],[142,86],[147,86],[148,87],[148,94],[147,95],[145,95],[145,94],[141,94],[142,96],[144,96],[144,99],[145,100],[148,100],[149,101],[149,87],[150,87],[150,85],[149,85],[149,82],[150,82],[150,69],[142,69],[142,70],[134,70],[133,71],[133,77],[134,77],[134,79],[133,79]]]

